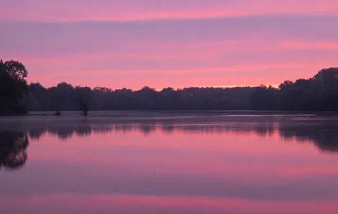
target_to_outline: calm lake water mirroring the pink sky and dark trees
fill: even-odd
[[[338,213],[338,117],[236,114],[0,117],[0,213]]]

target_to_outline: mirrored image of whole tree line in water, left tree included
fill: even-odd
[[[187,123],[119,123],[119,124],[78,124],[72,126],[35,126],[21,132],[0,131],[0,168],[20,168],[27,159],[26,148],[30,139],[40,139],[46,133],[68,139],[73,135],[84,137],[104,133],[140,132],[154,133],[255,133],[265,137],[278,134],[285,140],[297,139],[298,142],[312,142],[324,151],[338,152],[338,124],[330,121],[272,121],[272,122],[226,122],[224,124],[187,124]]]

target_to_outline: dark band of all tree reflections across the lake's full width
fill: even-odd
[[[337,119],[338,121],[338,119]],[[3,131],[1,131],[3,130]],[[338,123],[328,117],[148,117],[123,119],[33,119],[0,122],[0,168],[16,169],[27,160],[30,139],[56,135],[66,140],[74,135],[140,132],[151,135],[156,131],[183,133],[254,133],[260,137],[279,135],[284,141],[310,142],[322,151],[338,152]]]

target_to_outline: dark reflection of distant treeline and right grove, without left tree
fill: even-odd
[[[92,133],[129,133],[140,132],[149,135],[156,131],[164,133],[255,133],[261,137],[278,134],[285,141],[296,139],[297,142],[312,142],[321,150],[332,152],[338,151],[338,124],[335,121],[297,121],[270,120],[270,121],[225,121],[191,123],[180,121],[171,123],[169,121],[138,121],[138,122],[92,122],[77,123],[72,125],[43,124],[32,126],[27,132],[32,139],[39,139],[42,135],[49,133],[57,135],[59,139],[68,139],[73,135],[86,137]]]

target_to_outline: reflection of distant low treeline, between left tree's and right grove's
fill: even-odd
[[[243,126],[244,125],[244,126]],[[31,139],[40,139],[46,133],[56,135],[59,139],[68,139],[74,135],[84,137],[94,134],[104,133],[129,133],[139,132],[145,135],[154,133],[158,130],[163,133],[187,132],[187,133],[247,133],[255,132],[258,135],[272,135],[274,133],[274,123],[229,123],[222,125],[215,124],[105,124],[105,125],[77,125],[77,126],[48,126],[33,128],[28,130]]]

